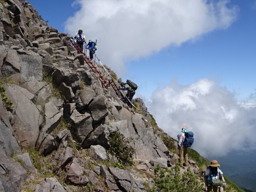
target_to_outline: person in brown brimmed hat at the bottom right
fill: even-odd
[[[221,182],[225,190],[226,182],[222,176],[222,171],[219,169],[220,164],[218,161],[212,160],[207,169],[204,170],[204,180],[205,187],[207,187],[207,192],[220,192]]]

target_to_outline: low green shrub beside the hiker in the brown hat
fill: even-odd
[[[158,164],[154,170],[154,186],[149,192],[202,192],[203,185],[197,180],[197,175],[188,168],[180,176],[180,167],[176,164],[171,169],[163,169]]]

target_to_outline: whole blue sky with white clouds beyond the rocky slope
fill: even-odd
[[[238,102],[256,101],[256,0],[30,2],[59,32],[97,39],[101,62],[138,84],[135,96],[172,137],[187,125],[203,155],[255,146],[256,108]]]

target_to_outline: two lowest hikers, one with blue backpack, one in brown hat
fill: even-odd
[[[192,146],[194,142],[193,132],[188,131],[187,126],[182,126],[181,134],[178,134],[178,154],[180,167],[186,169],[188,167],[188,148]],[[203,171],[205,187],[207,192],[220,192],[220,186],[223,188],[226,186],[222,171],[219,169],[220,164],[218,161],[212,160],[207,166],[207,169]]]

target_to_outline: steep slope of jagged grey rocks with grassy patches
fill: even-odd
[[[145,192],[157,164],[174,166],[177,155],[151,126],[144,102],[137,98],[139,113],[132,112],[105,88],[69,34],[24,0],[1,0],[0,15],[1,192]],[[116,132],[132,138],[129,169],[107,155]]]

